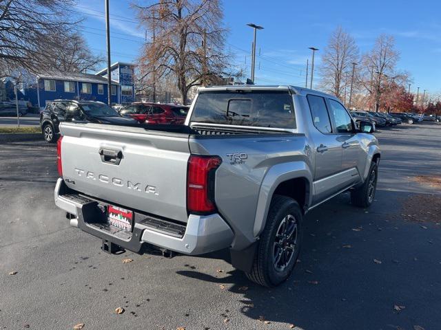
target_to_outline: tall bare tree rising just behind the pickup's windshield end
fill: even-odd
[[[320,73],[322,85],[331,94],[342,98],[346,87],[346,76],[349,85],[352,77],[352,63],[358,62],[358,47],[353,37],[338,27],[329,38],[322,56]]]

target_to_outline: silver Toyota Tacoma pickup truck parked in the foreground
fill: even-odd
[[[185,125],[63,123],[54,197],[104,250],[229,248],[265,286],[285,281],[305,213],[350,190],[367,208],[380,150],[334,96],[291,86],[207,87]]]

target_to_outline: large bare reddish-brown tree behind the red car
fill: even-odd
[[[187,102],[189,89],[209,85],[225,72],[223,10],[219,0],[158,0],[133,4],[141,26],[154,40],[145,43],[139,58],[142,78],[173,77]]]

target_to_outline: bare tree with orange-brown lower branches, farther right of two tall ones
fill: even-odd
[[[378,36],[373,49],[362,56],[363,72],[360,83],[367,89],[374,111],[380,107],[381,97],[385,89],[384,79],[393,77],[400,54],[395,50],[393,36]]]

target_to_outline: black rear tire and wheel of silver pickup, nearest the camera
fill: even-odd
[[[302,221],[302,210],[294,199],[274,195],[252,271],[246,273],[250,281],[275,287],[289,278],[302,245]]]

